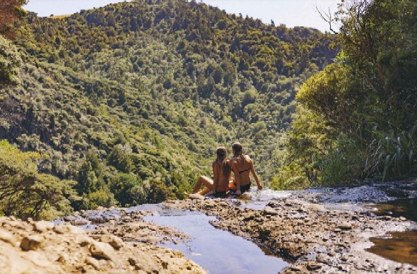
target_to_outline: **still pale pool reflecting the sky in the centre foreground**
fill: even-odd
[[[279,273],[290,264],[279,257],[265,254],[251,241],[229,232],[216,229],[210,223],[214,217],[199,212],[159,209],[159,216],[147,216],[146,220],[175,227],[188,234],[180,244],[165,243],[161,246],[179,250],[209,273]]]

